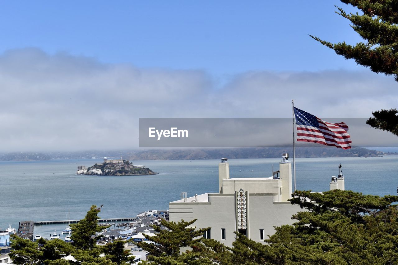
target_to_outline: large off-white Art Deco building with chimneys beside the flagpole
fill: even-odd
[[[273,226],[293,224],[291,217],[303,211],[288,199],[292,194],[292,165],[288,155],[270,178],[230,178],[227,159],[219,163],[219,193],[204,193],[169,203],[170,221],[197,219],[197,228],[211,227],[204,236],[227,246],[235,241],[235,231],[264,243],[275,233]],[[279,174],[279,176],[278,176]],[[336,183],[339,180],[336,180]],[[343,180],[344,181],[344,180]],[[335,184],[331,183],[331,188]],[[344,187],[342,182],[338,186]],[[338,187],[339,188],[339,187]]]

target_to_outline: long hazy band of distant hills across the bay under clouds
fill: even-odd
[[[315,146],[315,145],[314,145]],[[292,147],[257,147],[257,148],[202,148],[202,149],[144,149],[144,150],[103,150],[78,152],[49,152],[49,153],[3,153],[0,161],[40,161],[50,159],[91,159],[118,158],[134,160],[196,160],[196,159],[229,159],[238,158],[271,158],[281,157],[289,153],[293,157]],[[343,150],[335,147],[297,147],[296,157],[377,157],[386,153],[361,147]],[[387,153],[398,155],[398,153]]]

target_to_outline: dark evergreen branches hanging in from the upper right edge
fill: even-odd
[[[348,19],[353,30],[363,42],[355,45],[344,41],[330,43],[310,35],[316,41],[333,49],[345,59],[353,59],[357,64],[369,67],[372,72],[394,75],[398,81],[398,2],[394,0],[341,0],[358,8],[362,14],[347,14],[336,6],[337,14]],[[398,136],[398,110],[372,112],[367,120],[373,128],[385,130]]]

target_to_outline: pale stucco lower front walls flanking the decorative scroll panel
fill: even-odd
[[[170,221],[178,222],[197,219],[197,228],[211,227],[211,238],[226,246],[232,246],[236,230],[235,194],[205,193],[208,202],[171,202]],[[189,198],[188,198],[189,199]],[[289,202],[273,202],[272,193],[249,193],[248,197],[248,237],[261,242],[259,229],[264,229],[265,238],[275,233],[273,226],[293,224],[291,217],[300,211],[298,205]],[[188,200],[187,200],[188,201]],[[225,228],[226,239],[221,240],[221,228]]]

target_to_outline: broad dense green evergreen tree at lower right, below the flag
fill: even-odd
[[[300,264],[395,264],[398,241],[398,196],[362,195],[353,191],[296,191],[291,199],[308,211],[293,226],[276,228],[266,240]],[[277,263],[274,263],[277,264]]]

